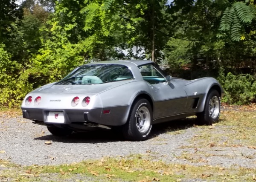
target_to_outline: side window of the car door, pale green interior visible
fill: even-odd
[[[164,76],[152,64],[138,66],[138,68],[140,69],[143,80],[150,84],[159,84],[166,81]]]

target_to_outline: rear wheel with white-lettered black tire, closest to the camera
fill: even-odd
[[[128,121],[122,127],[125,139],[130,141],[142,141],[149,137],[152,129],[152,108],[145,98],[134,102]]]

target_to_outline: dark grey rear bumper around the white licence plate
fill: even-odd
[[[49,111],[63,112],[64,123],[61,124],[82,124],[93,122],[106,126],[120,126],[128,120],[129,107],[106,107],[95,108],[90,110],[75,110],[75,109],[47,109],[47,108],[26,108],[21,107],[23,118],[32,121],[43,121],[44,124],[60,124],[55,122],[47,122]],[[104,110],[110,110],[109,113],[104,113]]]

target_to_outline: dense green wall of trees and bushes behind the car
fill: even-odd
[[[254,0],[0,0],[0,107],[91,61],[150,59],[256,100]]]

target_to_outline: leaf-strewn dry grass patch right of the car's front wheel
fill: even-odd
[[[255,147],[256,112],[225,111],[220,122],[203,126],[192,141],[200,147]]]

